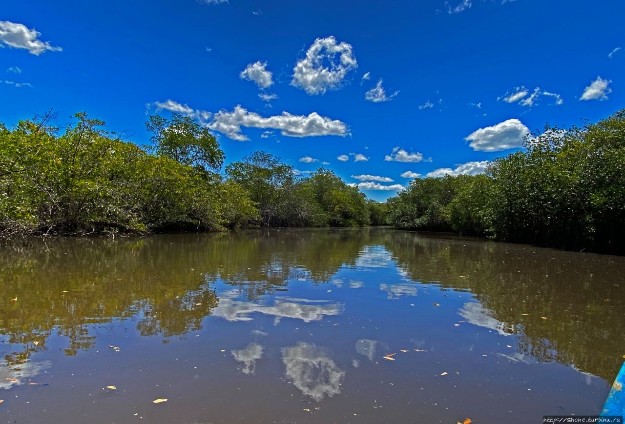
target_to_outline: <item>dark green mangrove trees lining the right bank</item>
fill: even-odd
[[[625,254],[625,109],[582,127],[546,127],[486,175],[415,179],[389,199],[400,229]]]

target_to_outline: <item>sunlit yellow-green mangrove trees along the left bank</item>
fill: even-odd
[[[0,124],[0,235],[382,224],[385,205],[327,169],[309,177],[266,152],[219,174],[224,152],[191,117],[151,116],[139,146],[76,114]]]

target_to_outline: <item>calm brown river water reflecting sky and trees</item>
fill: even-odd
[[[624,315],[625,258],[443,235],[3,245],[0,423],[592,415]]]

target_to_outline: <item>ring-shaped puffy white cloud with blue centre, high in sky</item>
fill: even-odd
[[[293,68],[291,86],[311,95],[324,94],[341,88],[347,73],[357,66],[351,44],[337,44],[332,36],[317,38]]]

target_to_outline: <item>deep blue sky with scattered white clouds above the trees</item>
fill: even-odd
[[[625,107],[622,1],[285,4],[5,2],[0,121],[87,111],[144,144],[146,113],[179,111],[226,163],[266,150],[384,200]]]

